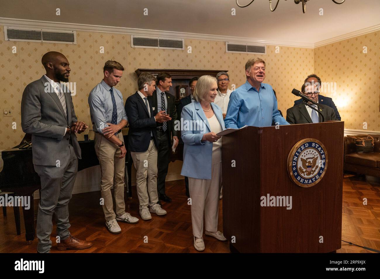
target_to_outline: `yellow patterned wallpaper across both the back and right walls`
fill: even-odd
[[[48,51],[62,52],[68,58],[70,82],[76,82],[75,112],[79,120],[88,124],[87,97],[103,78],[106,60],[117,60],[125,68],[117,85],[125,101],[137,90],[134,72],[137,68],[228,70],[231,84],[238,87],[245,82],[245,62],[253,56],[225,53],[225,43],[220,41],[185,39],[185,50],[168,50],[132,48],[130,35],[123,34],[77,32],[76,45],[9,42],[4,41],[2,34],[3,26],[0,26],[0,113],[10,109],[13,116],[0,117],[0,150],[17,145],[24,136],[20,112],[22,92],[28,83],[44,74],[41,57]],[[363,44],[368,47],[368,54],[361,54]],[[17,48],[15,54],[13,46]],[[101,46],[104,53],[100,53]],[[188,46],[192,47],[191,54],[187,53]],[[378,47],[378,33],[371,33],[315,50],[280,46],[276,52],[276,46],[268,45],[267,54],[259,57],[266,61],[265,82],[275,89],[284,116],[296,99],[291,90],[300,88],[304,78],[315,71],[323,81],[337,82],[336,95],[330,95],[342,112],[346,128],[362,129],[361,123],[367,121],[368,129],[380,130]],[[330,80],[333,77],[336,80]],[[362,97],[364,94],[369,98],[367,101]],[[13,122],[16,129],[12,129]]]

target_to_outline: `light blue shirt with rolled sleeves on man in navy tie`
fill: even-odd
[[[115,87],[113,88],[114,97],[116,101],[117,109],[117,123],[120,123],[122,119],[128,121],[127,113],[124,109],[123,95]],[[103,134],[103,129],[108,127],[107,123],[112,121],[112,99],[111,92],[109,91],[111,86],[106,84],[102,80],[97,86],[95,86],[89,95],[90,116],[93,124],[93,130]]]

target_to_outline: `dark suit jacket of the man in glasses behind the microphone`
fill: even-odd
[[[325,117],[325,121],[337,120],[335,112],[331,107],[318,103],[318,109],[321,109],[321,113]],[[321,116],[318,113],[319,121],[322,122]],[[307,112],[306,105],[302,102],[298,106],[291,107],[286,112],[286,121],[290,124],[306,124],[313,123],[310,118],[309,112]]]

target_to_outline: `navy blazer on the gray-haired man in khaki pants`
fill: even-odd
[[[127,113],[128,150],[132,152],[144,152],[148,150],[150,143],[150,131],[153,132],[154,143],[158,147],[156,120],[154,119],[152,102],[149,101],[150,115],[143,99],[139,93],[129,96],[125,101],[125,112]]]

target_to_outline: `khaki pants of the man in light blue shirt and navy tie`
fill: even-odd
[[[123,134],[121,132],[116,136],[119,140],[124,142]],[[116,214],[117,216],[122,216],[125,213],[125,156],[123,158],[119,158],[121,154],[120,148],[99,133],[95,133],[94,142],[95,152],[98,156],[101,171],[100,187],[101,197],[104,199],[103,212],[106,221],[111,221],[116,218],[111,194],[112,186],[114,186]]]

